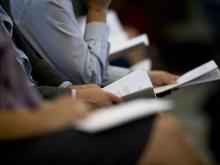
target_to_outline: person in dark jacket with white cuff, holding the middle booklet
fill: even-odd
[[[13,26],[12,20],[1,6],[0,23],[10,35],[13,34],[13,39],[17,41],[18,46],[24,49],[26,54],[14,47],[17,51],[16,58],[23,66],[25,73],[29,77],[31,85],[38,85],[37,89],[39,89],[44,98],[52,99],[64,94],[73,95],[74,98],[76,97],[82,99],[93,108],[99,108],[121,102],[121,98],[104,92],[95,84],[73,86],[72,83],[63,76],[63,74],[51,67],[45,60],[40,59],[36,53],[32,51],[30,45],[25,41],[22,35],[19,34],[16,26]],[[28,58],[30,59],[31,64]],[[37,82],[35,82],[35,80]]]

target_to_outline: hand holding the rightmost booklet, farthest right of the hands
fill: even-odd
[[[178,79],[177,75],[165,71],[150,71],[148,75],[154,87],[175,84]]]

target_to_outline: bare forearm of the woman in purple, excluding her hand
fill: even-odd
[[[64,127],[42,111],[0,112],[0,140],[16,140],[43,135]]]

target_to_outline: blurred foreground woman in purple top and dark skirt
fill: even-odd
[[[0,155],[21,164],[202,164],[171,117],[151,116],[99,133],[74,130],[89,115],[72,98],[43,102],[0,25]]]

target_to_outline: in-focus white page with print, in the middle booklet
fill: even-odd
[[[119,97],[123,97],[147,88],[153,89],[153,85],[147,72],[136,70],[103,89]]]

